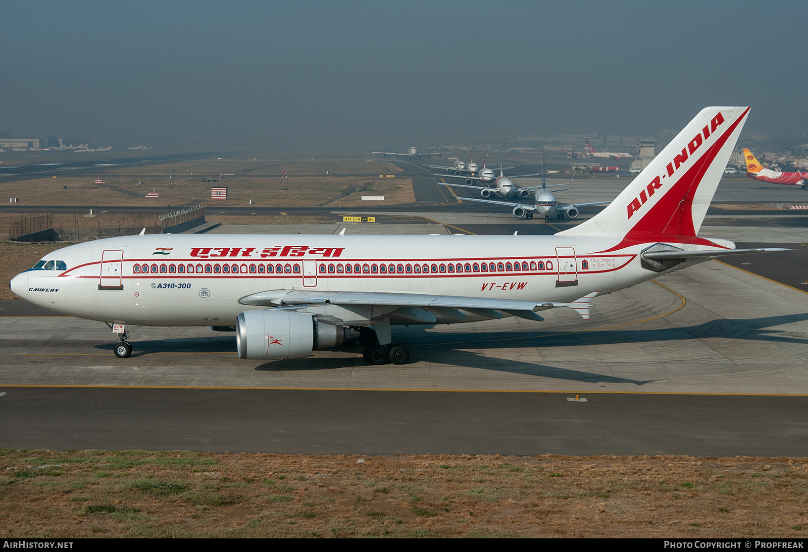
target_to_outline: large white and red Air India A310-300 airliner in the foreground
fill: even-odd
[[[391,324],[456,324],[570,307],[731,253],[698,236],[749,115],[707,107],[600,214],[554,236],[150,235],[70,245],[11,280],[53,312],[128,328],[235,329],[238,355],[303,358],[359,340],[404,364]]]

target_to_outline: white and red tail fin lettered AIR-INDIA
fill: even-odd
[[[559,234],[615,236],[621,244],[696,236],[749,110],[705,107],[617,199]]]

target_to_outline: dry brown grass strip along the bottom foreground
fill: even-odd
[[[2,537],[805,537],[806,459],[0,451]]]

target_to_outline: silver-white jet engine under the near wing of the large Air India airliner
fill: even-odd
[[[267,309],[245,311],[236,317],[239,358],[305,358],[314,349],[334,349],[354,337],[359,337],[359,332],[346,329],[343,320],[333,316]]]

